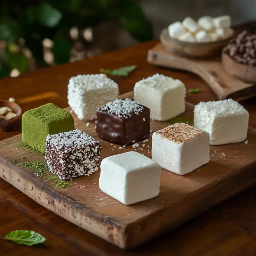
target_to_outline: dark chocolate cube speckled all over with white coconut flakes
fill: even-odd
[[[62,180],[98,170],[101,146],[82,130],[49,134],[45,147],[45,164]]]

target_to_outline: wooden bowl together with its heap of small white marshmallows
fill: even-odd
[[[231,18],[203,16],[198,21],[191,17],[174,22],[165,28],[160,41],[172,53],[188,58],[213,58],[221,56],[221,50],[234,35]]]

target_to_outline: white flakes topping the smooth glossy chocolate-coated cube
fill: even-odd
[[[143,106],[130,99],[116,99],[108,102],[101,110],[108,110],[108,113],[117,115],[119,118],[128,118],[133,114],[138,115],[143,110]]]

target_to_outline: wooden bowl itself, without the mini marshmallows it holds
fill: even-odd
[[[230,38],[232,37],[233,35]],[[220,57],[222,49],[229,43],[230,38],[209,43],[191,43],[170,38],[168,28],[164,28],[160,34],[160,41],[168,51],[191,59]]]

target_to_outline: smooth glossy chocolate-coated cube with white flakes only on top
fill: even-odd
[[[96,132],[101,139],[127,146],[150,137],[149,116],[149,108],[116,99],[97,110]]]

